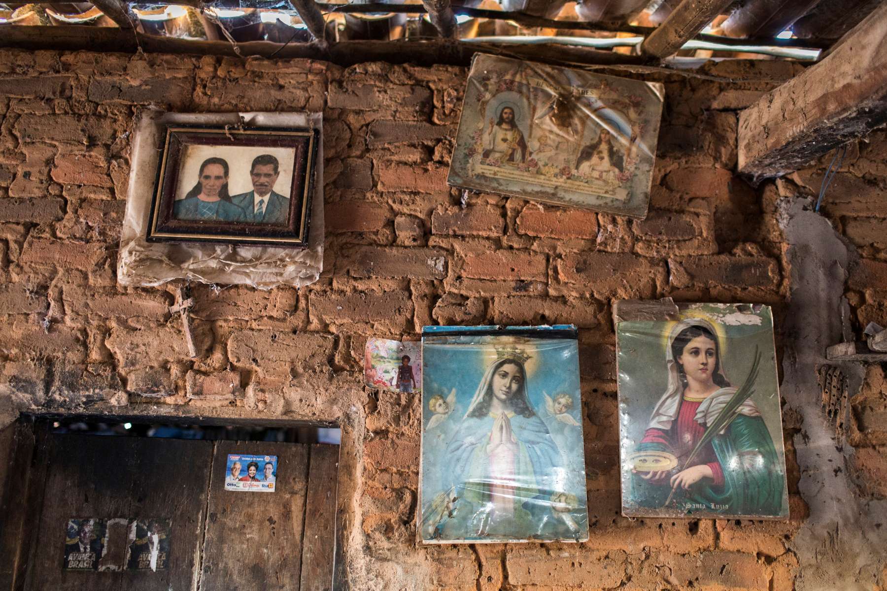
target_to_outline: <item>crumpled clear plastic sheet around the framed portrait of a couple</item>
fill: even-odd
[[[317,281],[324,258],[323,134],[319,138],[306,248],[151,243],[145,236],[162,152],[163,129],[169,124],[322,128],[323,118],[321,113],[141,113],[132,148],[117,282],[154,286],[188,279],[205,284],[247,284],[271,289],[277,285],[300,287]]]

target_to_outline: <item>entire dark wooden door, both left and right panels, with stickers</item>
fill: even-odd
[[[0,589],[339,587],[334,582],[338,446],[46,432],[24,440],[35,442],[34,451],[27,454],[27,462],[21,460],[21,450],[16,452],[19,460],[5,470],[7,494],[2,498],[27,488],[27,498],[20,500],[20,513],[15,514],[27,517],[0,521],[0,548],[20,556],[9,573],[0,572]],[[275,492],[226,490],[229,454],[277,455]],[[13,470],[28,472],[27,478],[12,478]],[[29,484],[11,487],[11,482]],[[167,568],[63,569],[67,522],[72,518],[169,519]],[[28,531],[30,536],[22,535]]]

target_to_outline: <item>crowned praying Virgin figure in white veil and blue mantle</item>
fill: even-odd
[[[478,536],[526,535],[550,507],[553,469],[561,454],[530,405],[520,349],[497,349],[474,398],[446,448],[462,516]]]

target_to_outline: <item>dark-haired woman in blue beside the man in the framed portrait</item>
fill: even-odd
[[[243,222],[243,210],[231,202],[228,194],[228,162],[222,158],[203,160],[198,181],[191,191],[173,206],[177,220]]]

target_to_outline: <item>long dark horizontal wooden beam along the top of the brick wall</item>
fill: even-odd
[[[640,56],[601,51],[587,47],[569,47],[556,44],[466,43],[450,39],[429,41],[343,41],[326,45],[311,43],[271,43],[248,41],[238,43],[239,54],[227,41],[201,41],[124,32],[113,27],[28,27],[0,26],[0,47],[18,47],[27,50],[61,51],[145,51],[146,53],[173,53],[231,57],[258,56],[263,58],[322,59],[340,66],[353,66],[373,61],[393,64],[413,63],[420,66],[443,64],[468,66],[478,52],[498,53],[514,58],[534,59],[553,64],[588,66],[640,65]]]

